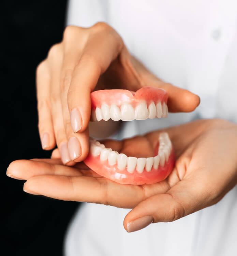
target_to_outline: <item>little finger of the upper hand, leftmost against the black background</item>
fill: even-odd
[[[55,147],[55,136],[51,117],[49,89],[49,67],[48,63],[43,61],[40,63],[36,70],[36,90],[38,100],[39,133],[42,148],[46,150]]]

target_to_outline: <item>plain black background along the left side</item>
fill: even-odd
[[[0,255],[62,255],[78,203],[33,196],[5,175],[16,159],[45,158],[38,134],[35,68],[61,41],[66,1],[3,1]]]

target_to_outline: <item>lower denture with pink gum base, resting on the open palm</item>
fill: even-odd
[[[121,184],[152,184],[172,171],[174,151],[167,133],[159,135],[154,157],[148,158],[129,157],[92,139],[84,162],[96,173]]]

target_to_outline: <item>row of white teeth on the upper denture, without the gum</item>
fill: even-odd
[[[108,121],[110,118],[114,121],[133,121],[136,120],[146,120],[148,118],[161,118],[168,116],[168,107],[165,102],[158,102],[156,105],[151,102],[147,107],[146,102],[139,103],[135,108],[129,103],[123,103],[121,107],[112,104],[108,106],[103,103],[101,108],[96,107],[92,109],[91,118],[92,121],[105,120]]]

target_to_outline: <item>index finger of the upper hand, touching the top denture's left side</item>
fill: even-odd
[[[75,66],[68,90],[68,108],[74,132],[86,130],[91,112],[90,93],[110,63],[120,53],[123,42],[106,24],[96,24],[79,63]]]

